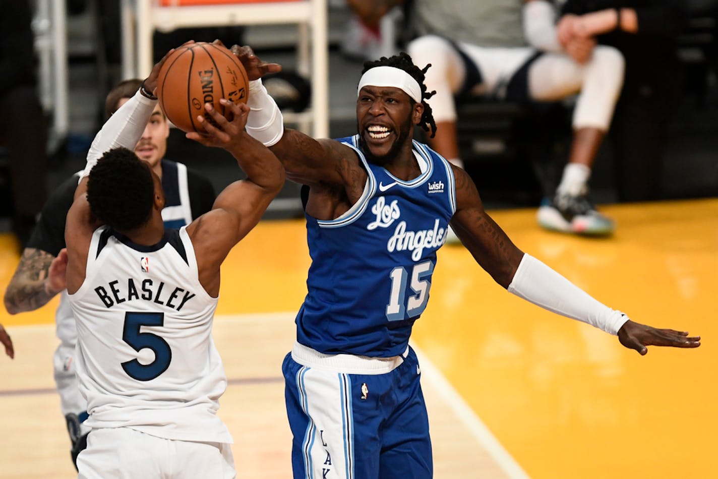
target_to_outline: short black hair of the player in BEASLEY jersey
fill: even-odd
[[[144,225],[154,205],[149,165],[126,148],[106,152],[90,171],[88,203],[93,215],[117,231]]]

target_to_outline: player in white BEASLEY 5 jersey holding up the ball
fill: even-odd
[[[220,265],[281,190],[284,171],[244,132],[249,108],[225,102],[233,119],[215,115],[221,130],[208,129],[207,144],[233,154],[247,178],[190,225],[166,229],[162,183],[132,151],[161,64],[95,137],[67,213],[75,361],[93,429],[80,478],[235,477],[232,438],[216,415],[227,383],[211,335]]]

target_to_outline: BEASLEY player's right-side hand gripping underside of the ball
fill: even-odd
[[[205,103],[207,116],[197,116],[197,121],[205,129],[205,134],[190,131],[185,136],[205,147],[219,147],[231,151],[241,143],[243,137],[249,137],[244,131],[249,107],[245,103],[235,104],[226,98],[221,98],[220,104],[225,107],[225,115],[216,111],[211,103]]]

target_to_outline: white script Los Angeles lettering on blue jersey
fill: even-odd
[[[439,182],[441,183],[441,182]],[[443,188],[443,184],[441,185]],[[376,199],[376,203],[371,207],[371,212],[376,215],[376,220],[366,225],[369,231],[376,228],[388,228],[401,217],[398,200],[393,200],[389,205],[383,196]],[[394,251],[411,251],[411,259],[419,261],[424,248],[439,248],[446,241],[445,228],[439,228],[439,218],[434,220],[434,228],[425,230],[411,231],[406,229],[406,221],[399,221],[396,224],[394,234],[386,243],[386,249],[393,253]]]

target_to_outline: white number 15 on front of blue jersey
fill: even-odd
[[[426,276],[430,278],[433,272],[434,263],[432,261],[424,261],[414,265],[414,268],[411,269],[411,282],[409,283],[409,287],[411,287],[414,294],[409,294],[409,299],[406,299],[405,305],[406,280],[409,279],[409,274],[404,266],[396,266],[391,270],[391,274],[389,274],[391,293],[389,294],[389,304],[386,305],[387,320],[401,321],[421,315],[421,312],[426,307],[426,302],[429,301],[429,288],[432,287],[432,282],[423,278]]]

